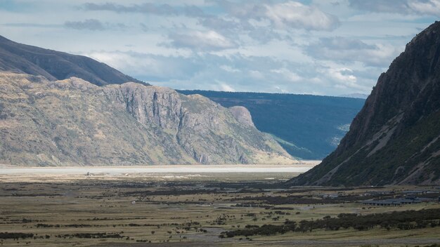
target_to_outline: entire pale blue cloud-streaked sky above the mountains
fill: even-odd
[[[0,0],[0,35],[175,89],[369,94],[440,0]]]

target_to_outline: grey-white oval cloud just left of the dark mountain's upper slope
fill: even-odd
[[[321,38],[309,44],[306,53],[321,60],[363,62],[368,66],[387,67],[399,51],[394,46],[370,45],[358,39],[336,36]]]

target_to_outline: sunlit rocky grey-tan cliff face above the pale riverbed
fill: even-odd
[[[136,83],[0,74],[0,163],[293,163],[270,136],[200,95]]]

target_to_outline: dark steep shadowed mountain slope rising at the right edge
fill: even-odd
[[[406,45],[339,147],[290,185],[440,184],[440,22]]]

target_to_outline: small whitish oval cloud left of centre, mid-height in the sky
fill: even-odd
[[[233,48],[236,45],[215,31],[190,31],[169,34],[171,45],[176,48],[192,48],[199,51],[212,51]]]

